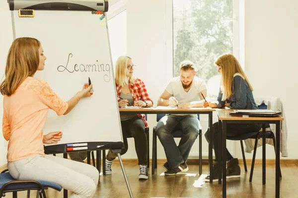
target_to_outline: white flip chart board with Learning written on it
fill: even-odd
[[[59,144],[86,142],[123,143],[115,78],[106,22],[91,11],[35,10],[34,17],[12,11],[15,37],[41,42],[47,57],[35,78],[49,83],[63,100],[71,99],[88,83],[93,95],[81,99],[67,115],[49,110],[44,134],[62,131]]]

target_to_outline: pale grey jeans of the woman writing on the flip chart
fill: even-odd
[[[8,162],[10,175],[17,180],[44,180],[74,192],[70,198],[92,198],[99,179],[91,165],[62,157],[34,155]]]

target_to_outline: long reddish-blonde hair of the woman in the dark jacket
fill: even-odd
[[[243,69],[241,68],[238,60],[232,54],[223,54],[214,62],[215,66],[222,67],[222,82],[221,90],[223,93],[222,100],[230,98],[232,93],[232,83],[235,73],[239,73],[248,83],[250,90],[253,91]]]

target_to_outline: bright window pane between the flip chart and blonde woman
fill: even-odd
[[[108,19],[108,27],[112,61],[115,69],[115,63],[117,61],[117,58],[119,56],[126,55],[127,53],[126,10]]]

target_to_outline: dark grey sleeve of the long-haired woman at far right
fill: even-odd
[[[228,107],[230,108],[245,108],[246,107],[246,83],[241,76],[235,76],[233,79],[234,92],[233,95],[236,101],[230,102]]]

